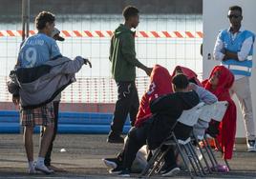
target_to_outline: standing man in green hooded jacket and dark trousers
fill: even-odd
[[[139,62],[135,51],[135,32],[132,28],[139,25],[139,10],[128,6],[122,11],[125,23],[120,24],[111,39],[110,61],[112,75],[117,83],[117,103],[111,131],[107,142],[123,143],[120,136],[128,113],[133,126],[139,110],[139,96],[135,85],[136,67],[144,70],[148,76],[152,71]]]

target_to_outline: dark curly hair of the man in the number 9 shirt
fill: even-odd
[[[41,11],[34,20],[35,27],[37,30],[43,30],[46,23],[52,24],[55,21],[55,16],[49,11]]]

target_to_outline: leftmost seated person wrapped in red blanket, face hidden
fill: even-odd
[[[155,65],[150,75],[150,86],[142,96],[139,103],[139,112],[135,122],[135,127],[147,120],[151,115],[149,104],[160,95],[172,92],[171,75],[168,70]]]

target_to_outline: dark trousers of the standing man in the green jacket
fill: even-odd
[[[139,110],[139,95],[135,82],[117,82],[117,103],[111,124],[111,132],[122,132],[128,113],[130,114],[131,126],[134,126]]]

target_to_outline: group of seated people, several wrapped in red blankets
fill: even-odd
[[[217,131],[215,137],[224,151],[223,157],[231,159],[236,133],[236,106],[229,94],[233,82],[234,75],[224,66],[216,66],[209,79],[201,83],[193,70],[177,66],[170,75],[168,70],[156,65],[150,76],[149,89],[140,100],[137,120],[127,134],[123,149],[117,157],[103,159],[112,168],[110,172],[130,176],[139,149],[144,145],[149,150],[158,149],[172,129],[175,134],[186,136],[186,130],[177,120],[183,110],[192,109],[200,102],[207,105],[217,101],[228,102],[223,121],[211,121],[209,130],[214,128]],[[173,176],[180,171],[174,148],[168,150],[164,161],[160,169],[162,176]]]

